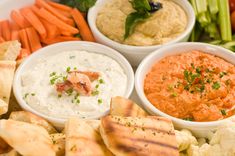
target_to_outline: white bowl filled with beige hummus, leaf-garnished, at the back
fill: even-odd
[[[132,16],[134,20],[127,24],[131,14],[138,14],[128,0],[99,0],[88,12],[88,23],[96,40],[121,52],[133,66],[162,45],[187,41],[195,24],[188,1],[146,1],[157,9],[150,9],[146,13],[148,18],[139,19],[141,22]]]

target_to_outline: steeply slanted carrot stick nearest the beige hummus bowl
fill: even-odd
[[[71,12],[72,17],[77,24],[77,27],[80,31],[81,37],[85,41],[91,41],[95,42],[95,38],[93,37],[93,34],[91,33],[91,30],[86,22],[86,20],[83,18],[82,14],[80,11],[78,11],[76,8],[73,9]]]

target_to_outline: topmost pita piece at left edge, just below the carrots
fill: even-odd
[[[8,41],[0,44],[0,60],[15,61],[21,50],[19,41]]]

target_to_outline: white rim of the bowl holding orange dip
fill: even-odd
[[[152,59],[152,57],[154,57],[155,55],[160,54],[160,53],[165,53],[168,49],[172,49],[172,48],[176,48],[176,47],[183,48],[184,46],[191,46],[191,45],[201,46],[201,47],[210,47],[210,48],[213,48],[213,49],[216,49],[216,50],[220,50],[223,53],[226,53],[227,55],[230,55],[231,57],[233,57],[235,59],[235,53],[233,53],[232,51],[230,51],[228,49],[225,49],[223,47],[219,47],[219,46],[211,45],[211,44],[207,44],[207,43],[181,42],[181,43],[176,43],[176,44],[172,44],[172,45],[169,45],[169,46],[165,46],[165,47],[162,47],[162,48],[160,48],[158,50],[153,51],[146,58],[144,58],[144,60],[142,60],[142,62],[140,63],[140,65],[137,68],[136,73],[135,73],[135,90],[137,92],[138,97],[141,99],[142,105],[144,106],[144,108],[146,108],[147,110],[150,110],[152,112],[152,114],[160,115],[162,117],[169,118],[173,122],[175,122],[176,124],[179,124],[179,125],[188,125],[188,126],[191,126],[191,127],[199,127],[199,126],[208,126],[208,127],[211,127],[211,126],[220,125],[221,123],[224,123],[224,122],[228,121],[229,119],[233,119],[235,117],[235,115],[233,115],[233,116],[231,116],[229,118],[222,119],[222,120],[207,121],[207,122],[195,122],[195,121],[186,121],[186,120],[183,120],[183,119],[179,119],[179,118],[173,117],[171,115],[168,115],[167,113],[164,113],[161,110],[159,110],[158,108],[154,107],[153,104],[151,104],[151,102],[145,96],[145,93],[143,91],[143,86],[140,85],[141,84],[140,83],[141,82],[141,78],[146,76],[146,75],[143,75],[143,73],[142,73],[143,72],[143,68],[146,65],[151,65],[151,67],[153,66],[153,64],[149,63],[149,61]],[[217,55],[215,54],[215,56],[217,56]],[[234,64],[234,63],[232,63],[232,64]],[[143,78],[143,80],[144,80],[144,78]]]

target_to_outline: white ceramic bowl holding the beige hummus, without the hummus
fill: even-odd
[[[99,13],[100,9],[109,2],[110,0],[98,0],[94,7],[92,7],[88,12],[88,23],[90,25],[91,31],[95,39],[104,45],[112,47],[119,52],[121,52],[131,63],[133,66],[138,66],[141,60],[147,56],[150,52],[159,49],[162,45],[154,45],[154,46],[131,46],[125,45],[118,42],[115,42],[105,35],[103,35],[96,26],[96,17]],[[187,41],[190,33],[195,24],[195,14],[191,4],[187,0],[173,0],[177,4],[179,4],[186,12],[188,16],[188,25],[186,30],[179,35],[177,38],[171,40],[170,42],[165,43],[164,45],[177,43],[177,42],[184,42]],[[115,17],[114,17],[115,18]]]

